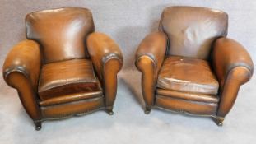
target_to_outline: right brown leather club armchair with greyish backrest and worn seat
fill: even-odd
[[[203,7],[167,7],[159,31],[136,53],[145,113],[151,108],[212,117],[218,125],[253,75],[244,47],[226,38],[228,16]]]

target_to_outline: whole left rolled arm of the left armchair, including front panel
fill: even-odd
[[[16,44],[3,64],[3,78],[18,91],[20,100],[30,118],[40,119],[37,86],[40,75],[40,46],[32,40]]]

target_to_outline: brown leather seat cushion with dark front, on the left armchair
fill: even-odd
[[[38,88],[41,100],[99,90],[91,60],[72,59],[42,67]]]

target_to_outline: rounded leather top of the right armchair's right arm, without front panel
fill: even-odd
[[[254,63],[249,53],[241,44],[228,38],[216,40],[212,52],[212,66],[221,81],[221,86],[224,85],[226,76],[235,67],[244,67],[248,70],[248,75],[241,77],[244,78],[244,82],[249,81],[254,73]]]

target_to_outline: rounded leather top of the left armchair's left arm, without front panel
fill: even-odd
[[[24,77],[29,78],[30,85],[36,91],[41,63],[40,45],[33,40],[21,41],[7,54],[2,67],[4,80],[8,84],[9,74],[12,72],[21,72]]]

